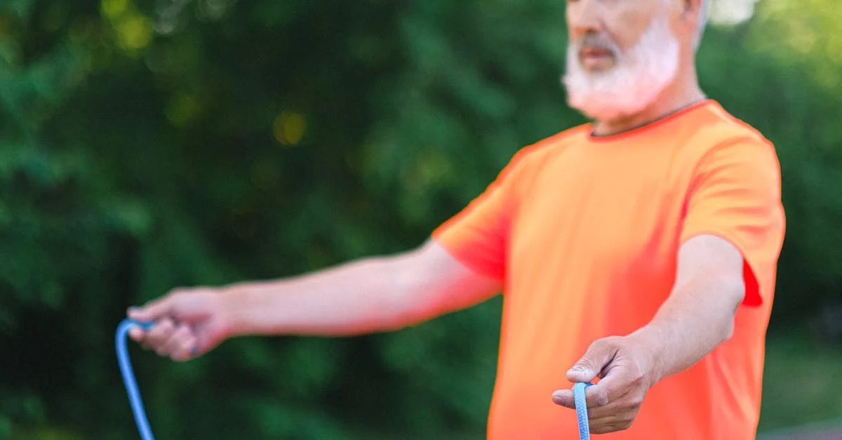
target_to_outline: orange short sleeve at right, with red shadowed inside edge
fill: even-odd
[[[711,149],[696,169],[685,210],[680,242],[701,234],[727,239],[743,254],[743,304],[770,300],[785,229],[772,145],[745,138]]]

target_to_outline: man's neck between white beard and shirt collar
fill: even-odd
[[[648,105],[635,115],[594,121],[593,134],[594,136],[611,136],[640,126],[646,126],[704,99],[706,99],[705,94],[701,93],[701,89],[697,86],[682,94],[665,93],[662,94],[662,98],[656,99],[652,105]]]

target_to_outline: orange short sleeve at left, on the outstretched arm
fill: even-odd
[[[499,281],[505,278],[509,224],[529,149],[515,154],[480,196],[432,234],[435,242],[463,265]]]

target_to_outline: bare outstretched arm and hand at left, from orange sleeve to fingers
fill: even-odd
[[[481,303],[500,288],[429,240],[403,254],[278,281],[176,289],[130,309],[130,318],[157,323],[130,335],[159,355],[183,361],[234,336],[397,330]]]

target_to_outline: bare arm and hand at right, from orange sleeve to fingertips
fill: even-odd
[[[591,432],[631,427],[649,388],[727,341],[744,294],[743,256],[733,244],[714,235],[687,240],[673,292],[652,321],[631,335],[594,341],[568,371],[571,382],[601,378],[586,392]],[[575,408],[570,389],[552,400]]]

